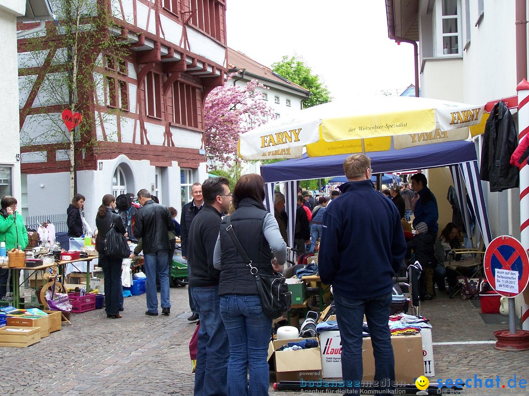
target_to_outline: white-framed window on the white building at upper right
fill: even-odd
[[[461,54],[461,1],[435,0],[433,15],[436,56]]]

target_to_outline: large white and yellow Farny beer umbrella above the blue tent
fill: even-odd
[[[297,111],[239,137],[242,159],[299,158],[401,149],[483,133],[482,105],[439,99],[374,97]],[[484,119],[485,121],[485,119]]]

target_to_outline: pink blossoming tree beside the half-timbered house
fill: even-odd
[[[235,87],[229,76],[223,87],[209,92],[204,103],[206,156],[210,169],[231,167],[239,162],[239,134],[273,119],[273,110],[266,105],[257,80],[245,87]]]

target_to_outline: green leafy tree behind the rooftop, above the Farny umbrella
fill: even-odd
[[[325,84],[320,81],[320,76],[313,74],[302,58],[298,56],[283,56],[280,62],[272,63],[272,70],[280,76],[295,82],[299,86],[311,91],[311,97],[303,100],[303,107],[308,108],[332,100],[331,93]]]

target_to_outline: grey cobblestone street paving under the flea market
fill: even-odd
[[[72,326],[28,348],[0,347],[0,394],[145,395],[193,394],[188,343],[195,324],[186,320],[187,288],[171,288],[171,315],[145,316],[145,295],[125,298],[122,319],[107,319],[102,309],[72,314]],[[161,312],[161,309],[160,309]],[[529,351],[502,352],[494,345],[453,344],[490,341],[508,324],[486,325],[471,301],[437,296],[423,304],[431,318],[437,379],[494,379],[506,389],[465,389],[463,394],[527,395],[508,389],[507,380],[527,379]],[[504,317],[507,322],[507,317]],[[398,364],[398,360],[397,363]],[[419,375],[419,373],[417,373]],[[275,382],[273,374],[270,385]],[[278,396],[299,392],[274,392]],[[310,394],[310,393],[301,393]],[[327,393],[329,394],[329,393]]]

